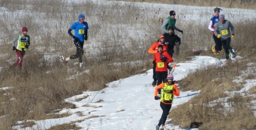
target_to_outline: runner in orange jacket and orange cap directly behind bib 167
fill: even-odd
[[[158,51],[158,45],[163,45],[163,51],[167,51],[168,46],[165,44],[164,36],[159,37],[159,42],[154,42],[153,45],[148,49],[148,53],[155,54]],[[156,61],[153,60],[153,79],[152,85],[157,85],[157,76],[156,76]]]

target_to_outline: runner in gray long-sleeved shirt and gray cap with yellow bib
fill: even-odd
[[[229,20],[225,20],[224,14],[221,14],[219,16],[220,21],[215,25],[214,34],[218,38],[221,38],[221,44],[225,50],[226,53],[226,62],[229,62],[229,53],[234,53],[232,48],[230,48],[230,38],[235,37],[235,29],[234,26],[231,24]],[[230,28],[231,28],[231,34],[230,34]]]

